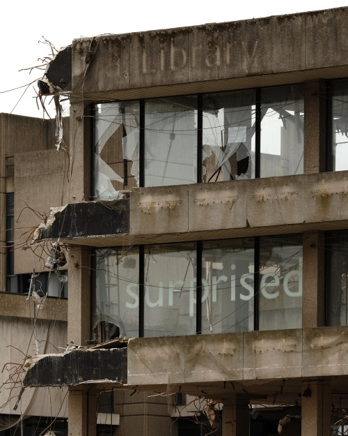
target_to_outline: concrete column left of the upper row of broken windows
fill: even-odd
[[[86,103],[70,107],[70,141],[68,183],[63,203],[83,202],[90,199],[90,116]]]

